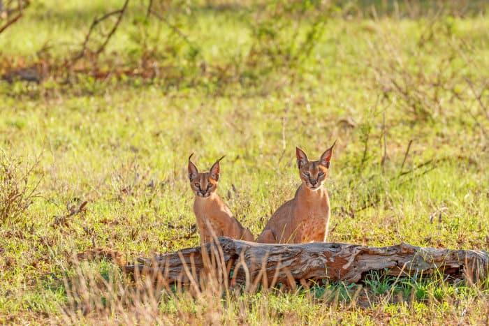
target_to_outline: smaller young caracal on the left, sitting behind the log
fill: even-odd
[[[189,156],[190,188],[195,193],[194,213],[197,218],[197,229],[200,243],[210,242],[214,236],[233,237],[254,241],[253,235],[231,214],[231,210],[217,195],[219,181],[219,161],[212,165],[209,172],[198,172]]]

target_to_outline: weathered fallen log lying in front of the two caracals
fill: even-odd
[[[370,247],[355,244],[258,244],[220,237],[215,243],[177,253],[139,258],[125,270],[159,274],[168,283],[191,283],[214,272],[233,274],[233,283],[258,280],[267,285],[329,280],[353,283],[373,270],[399,276],[441,272],[469,281],[488,276],[485,251],[433,249],[398,244]],[[232,271],[232,273],[230,273]]]

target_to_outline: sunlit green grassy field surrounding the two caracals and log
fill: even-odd
[[[462,15],[364,2],[325,17],[182,2],[166,23],[143,20],[133,1],[96,67],[142,69],[148,56],[153,79],[0,81],[0,323],[487,325],[488,280],[372,274],[362,285],[123,302],[107,283],[80,281],[130,288],[110,260],[71,263],[94,246],[131,260],[197,245],[191,152],[207,169],[226,155],[219,194],[258,235],[300,183],[295,146],[319,157],[334,140],[329,241],[488,251],[487,3]],[[62,61],[94,17],[121,5],[33,3],[0,34],[0,72]]]

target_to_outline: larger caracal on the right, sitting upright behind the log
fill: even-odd
[[[292,200],[285,202],[272,215],[258,242],[282,244],[325,242],[328,237],[330,200],[323,182],[328,177],[333,146],[319,161],[309,161],[302,149],[295,149],[302,184]]]

